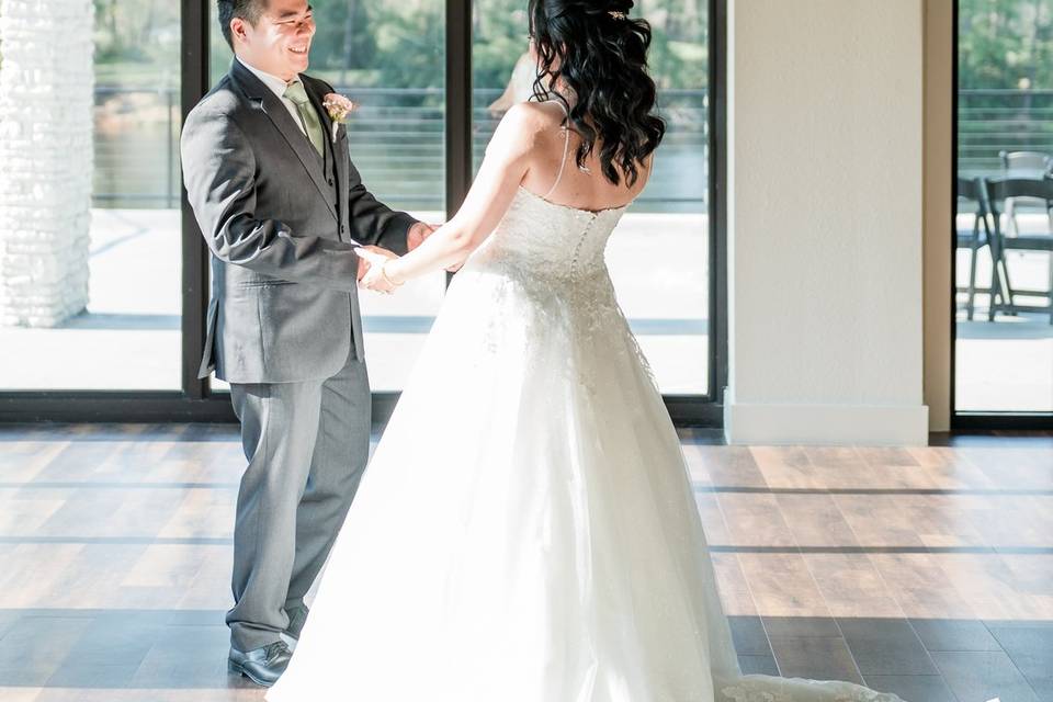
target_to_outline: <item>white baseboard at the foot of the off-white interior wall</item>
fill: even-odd
[[[724,405],[729,444],[924,446],[925,405]]]

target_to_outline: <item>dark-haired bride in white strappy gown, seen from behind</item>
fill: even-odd
[[[898,700],[739,672],[603,261],[664,134],[632,4],[530,0],[537,100],[450,223],[403,258],[362,252],[384,292],[464,265],[270,702]]]

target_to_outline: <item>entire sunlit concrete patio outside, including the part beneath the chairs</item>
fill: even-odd
[[[435,212],[415,214],[426,220],[441,217]],[[1027,217],[1026,227],[1041,224],[1033,215]],[[608,250],[619,299],[667,394],[707,389],[705,231],[704,215],[630,213]],[[664,252],[665,263],[641,268],[638,261],[654,260],[655,251]],[[962,285],[967,256],[967,251],[959,252]],[[1018,251],[1009,256],[1015,286],[1044,287],[1048,256]],[[86,314],[56,329],[0,328],[4,356],[32,360],[2,364],[0,388],[179,388],[179,212],[93,210],[90,265]],[[986,249],[980,252],[977,269],[977,285],[983,287],[990,276]],[[434,275],[408,284],[392,297],[363,294],[375,389],[401,388],[439,312],[442,292],[443,276]],[[959,409],[1053,410],[1053,326],[1049,316],[999,314],[996,321],[988,322],[986,306],[986,295],[978,294],[974,320],[966,321],[964,312],[959,315]]]

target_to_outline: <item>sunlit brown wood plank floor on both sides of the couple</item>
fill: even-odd
[[[682,439],[744,669],[1053,701],[1053,437]],[[241,466],[231,426],[0,428],[0,700],[260,700],[225,663]]]

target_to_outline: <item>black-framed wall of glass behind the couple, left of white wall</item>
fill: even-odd
[[[707,314],[707,63],[710,7],[722,3],[637,0],[633,9],[655,30],[652,73],[669,129],[608,256],[661,389],[692,396],[680,405],[692,420],[694,399],[717,389],[709,382],[718,344]],[[446,197],[468,185],[464,159],[478,166],[502,95],[524,97],[526,0],[312,4],[309,73],[359,104],[349,138],[365,185],[396,210],[444,222],[455,204]],[[192,106],[181,102],[196,101],[233,58],[216,2],[63,8],[53,20],[32,3],[0,2],[0,409],[225,417],[229,405],[208,392],[225,384],[194,377],[210,285],[197,280],[204,242],[184,237],[193,215],[179,163],[180,116]],[[56,37],[60,50],[42,50]],[[474,84],[460,78],[467,64]],[[635,269],[637,254],[658,248],[677,254]],[[375,390],[401,389],[445,286],[440,272],[398,295],[362,293]]]

